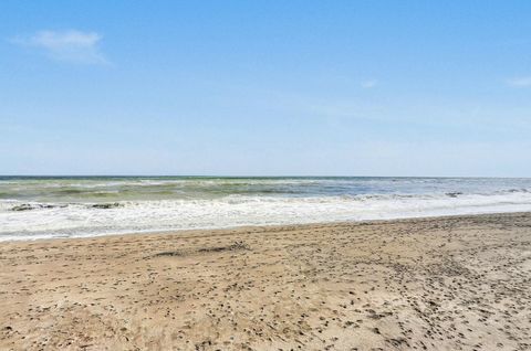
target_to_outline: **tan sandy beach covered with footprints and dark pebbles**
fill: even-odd
[[[4,242],[0,350],[530,350],[531,214]]]

